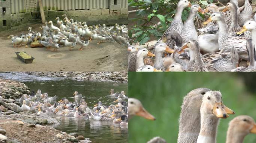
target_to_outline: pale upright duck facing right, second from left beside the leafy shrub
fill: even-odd
[[[184,26],[180,32],[183,43],[188,42],[188,40],[198,40],[198,35],[194,24],[194,18],[197,12],[204,14],[204,10],[201,9],[199,4],[192,4],[188,19],[184,23]]]

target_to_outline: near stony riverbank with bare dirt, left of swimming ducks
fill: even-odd
[[[36,109],[22,112],[19,98],[30,94],[28,86],[0,79],[0,143],[89,143],[76,133],[67,134],[49,125],[61,123],[60,117],[37,115]]]

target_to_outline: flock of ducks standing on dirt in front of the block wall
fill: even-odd
[[[56,18],[56,24],[52,21],[45,22],[45,25],[41,26],[41,32],[34,32],[31,27],[28,28],[28,34],[22,33],[19,36],[10,35],[13,47],[19,47],[32,42],[39,41],[47,49],[54,48],[54,51],[59,49],[61,46],[69,47],[69,50],[80,45],[79,50],[83,50],[83,47],[89,45],[89,41],[95,39],[101,42],[118,42],[121,45],[127,45],[128,28],[126,25],[118,25],[107,27],[103,25],[92,25],[88,26],[86,22],[74,22],[73,19],[68,19],[67,15],[63,20],[59,17]],[[48,26],[50,24],[50,26]]]

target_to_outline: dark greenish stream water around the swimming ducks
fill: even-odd
[[[30,88],[30,91],[41,89],[42,93],[48,93],[48,96],[57,96],[59,101],[66,97],[73,102],[74,91],[82,93],[85,101],[90,108],[101,101],[103,105],[114,104],[116,98],[109,98],[110,89],[115,91],[124,91],[127,93],[127,83],[117,83],[119,86],[112,86],[115,82],[92,82],[76,81],[64,78],[38,77],[24,73],[0,73],[0,77],[22,81]],[[90,138],[94,143],[123,143],[128,142],[128,129],[121,128],[119,124],[113,124],[109,121],[92,121],[86,118],[61,117],[60,125],[55,125],[57,130],[66,133],[76,132],[78,135]]]

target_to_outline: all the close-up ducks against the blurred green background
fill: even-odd
[[[141,102],[135,98],[128,99],[128,115],[155,120]],[[216,143],[217,126],[220,118],[226,119],[235,114],[222,101],[222,94],[207,88],[198,88],[189,92],[181,106],[179,119],[178,143]],[[247,134],[256,134],[256,123],[248,115],[239,115],[229,122],[226,143],[243,143]],[[155,137],[147,143],[166,143]]]

